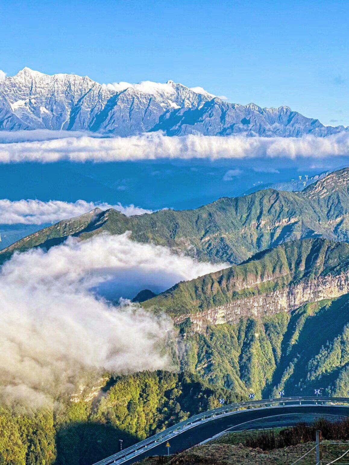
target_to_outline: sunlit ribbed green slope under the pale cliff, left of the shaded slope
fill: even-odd
[[[240,319],[237,325],[208,326],[203,333],[187,326],[181,344],[181,365],[198,372],[214,385],[232,390],[242,398],[254,392],[262,397],[280,359],[287,313],[261,319]]]

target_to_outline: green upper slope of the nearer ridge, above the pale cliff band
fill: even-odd
[[[300,283],[311,286],[312,282],[326,276],[334,279],[332,285],[335,286],[335,277],[343,272],[349,272],[349,244],[327,239],[296,240],[260,252],[241,265],[180,282],[143,302],[142,306],[166,311],[175,317],[234,301],[243,300],[244,306],[247,298],[275,294]],[[314,291],[316,293],[316,289]]]

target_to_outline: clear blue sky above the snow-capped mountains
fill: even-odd
[[[0,69],[175,80],[349,125],[349,1],[0,0]]]

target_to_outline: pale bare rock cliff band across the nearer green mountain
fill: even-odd
[[[261,293],[243,299],[234,299],[228,304],[202,312],[187,313],[175,318],[181,323],[190,318],[195,331],[202,331],[207,325],[237,323],[242,317],[258,318],[279,312],[292,312],[307,302],[334,299],[349,292],[349,273],[338,276],[319,277],[286,286],[273,292]]]

